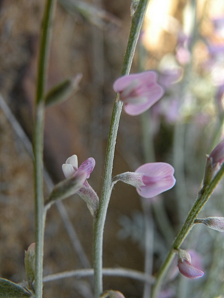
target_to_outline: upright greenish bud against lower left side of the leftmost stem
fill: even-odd
[[[27,283],[29,285],[30,290],[32,291],[34,291],[33,281],[35,279],[35,247],[35,243],[30,244],[27,251],[25,251],[24,258]]]

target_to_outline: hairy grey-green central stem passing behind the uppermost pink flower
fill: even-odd
[[[131,30],[128,39],[128,45],[125,53],[125,58],[122,66],[121,75],[128,75],[131,69],[132,60],[136,44],[139,38],[139,33],[144,20],[145,12],[149,0],[140,0],[137,10],[132,18]],[[122,102],[119,101],[119,95],[116,94],[113,112],[111,118],[111,126],[108,136],[108,144],[105,159],[105,171],[102,187],[102,196],[99,205],[99,212],[94,220],[93,228],[93,268],[94,268],[94,297],[99,298],[103,291],[102,282],[102,250],[103,250],[103,230],[108,209],[108,204],[111,197],[111,178],[113,168],[114,150],[116,144],[119,119],[122,110]]]

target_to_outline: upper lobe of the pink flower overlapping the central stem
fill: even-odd
[[[141,83],[146,82],[148,84],[150,82],[155,82],[156,79],[157,73],[152,70],[148,70],[146,72],[141,72],[138,74],[125,75],[123,77],[119,77],[113,83],[113,90],[115,92],[121,92],[135,80],[139,80]]]

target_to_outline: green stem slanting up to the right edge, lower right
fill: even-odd
[[[224,163],[223,163],[222,167],[220,168],[220,170],[218,171],[218,173],[213,178],[213,180],[208,185],[202,186],[202,188],[199,190],[197,199],[196,199],[193,207],[191,208],[190,212],[188,213],[185,223],[183,224],[179,234],[175,238],[174,243],[171,246],[171,249],[168,252],[168,255],[167,255],[164,263],[162,264],[159,272],[157,273],[157,277],[156,277],[155,284],[153,286],[151,298],[157,297],[157,294],[161,288],[161,285],[162,285],[163,279],[165,277],[165,274],[168,270],[168,267],[169,267],[171,261],[173,260],[173,257],[175,254],[174,250],[179,249],[179,247],[181,246],[182,242],[184,241],[184,239],[190,232],[191,228],[194,226],[194,220],[197,218],[197,215],[199,214],[199,212],[201,211],[201,209],[203,208],[205,203],[208,201],[209,197],[211,196],[212,192],[214,191],[214,189],[217,186],[217,184],[219,183],[219,181],[222,179],[223,175],[224,175]]]

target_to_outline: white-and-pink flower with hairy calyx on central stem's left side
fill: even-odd
[[[93,171],[95,163],[95,159],[89,157],[78,167],[78,159],[74,154],[66,160],[65,164],[62,164],[62,170],[66,178],[77,176],[79,179],[80,177],[80,184],[82,185],[76,193],[87,203],[93,216],[96,216],[98,211],[99,198],[86,179],[90,177],[90,173]]]

